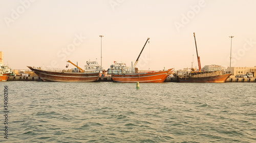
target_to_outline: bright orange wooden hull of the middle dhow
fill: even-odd
[[[116,82],[163,82],[170,72],[172,69],[152,73],[113,74],[112,80]]]

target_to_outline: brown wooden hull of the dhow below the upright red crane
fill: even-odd
[[[206,77],[179,77],[178,82],[199,82],[199,83],[223,83],[231,74],[206,76]]]

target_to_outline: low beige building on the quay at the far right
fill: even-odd
[[[233,73],[232,75],[241,75],[241,74],[247,74],[252,73],[253,77],[256,76],[256,66],[254,67],[229,67],[227,68],[227,71],[230,73]]]

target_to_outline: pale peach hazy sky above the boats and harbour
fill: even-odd
[[[0,51],[13,69],[65,69],[68,60],[139,70],[256,66],[256,1],[0,0]],[[102,39],[99,37],[102,35]],[[230,36],[233,36],[232,42]],[[231,46],[232,44],[232,46]],[[69,68],[71,68],[70,66]],[[74,68],[74,67],[72,67]]]

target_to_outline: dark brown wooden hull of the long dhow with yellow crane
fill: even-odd
[[[62,82],[88,82],[97,81],[99,79],[99,72],[89,73],[70,73],[70,72],[53,72],[35,69],[28,66],[36,75],[44,81],[62,81]]]

